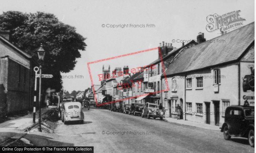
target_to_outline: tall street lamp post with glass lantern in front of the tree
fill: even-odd
[[[38,126],[37,129],[39,132],[42,132],[41,128],[41,81],[42,81],[42,62],[44,61],[45,50],[43,45],[41,44],[40,48],[37,50],[38,58],[39,58],[39,95],[38,95],[38,102],[39,102],[39,114],[38,114]]]

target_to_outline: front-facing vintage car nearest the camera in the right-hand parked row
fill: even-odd
[[[163,110],[159,110],[159,105],[155,103],[149,103],[147,102],[143,111],[142,111],[142,117],[147,116],[149,119],[150,117],[155,118],[160,118],[161,120],[164,117]]]

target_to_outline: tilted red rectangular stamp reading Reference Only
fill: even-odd
[[[104,88],[102,89],[102,94],[105,96],[108,95],[108,97],[110,97],[103,103],[99,103],[99,99],[96,95],[96,92],[99,88],[95,89],[90,66],[95,63],[114,60],[117,58],[124,58],[127,56],[132,58],[132,56],[140,55],[142,53],[150,51],[158,51],[159,59],[155,60],[154,62],[151,62],[148,65],[132,67],[130,69],[128,68],[128,66],[125,66],[123,70],[121,68],[116,68],[112,72],[108,70],[107,73],[102,72],[102,74],[97,74],[97,79],[101,82],[101,87],[103,88],[104,86]],[[96,106],[122,102],[128,99],[134,99],[139,97],[143,98],[148,95],[156,95],[163,91],[169,91],[169,86],[165,73],[165,66],[162,59],[161,50],[159,47],[118,55],[111,58],[100,59],[93,62],[88,62],[87,67],[90,75],[90,81]],[[163,79],[164,81],[165,89],[161,88],[160,90],[159,86],[161,79]],[[119,97],[117,94],[118,90],[125,94],[122,94],[122,96]],[[135,92],[135,90],[137,91]]]

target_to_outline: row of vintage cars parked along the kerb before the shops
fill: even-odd
[[[124,114],[133,114],[139,115],[141,117],[149,118],[160,118],[161,120],[164,118],[164,110],[159,109],[159,105],[155,103],[147,102],[146,105],[141,103],[131,103],[116,106],[115,103],[109,106],[109,110],[111,111],[119,111]]]

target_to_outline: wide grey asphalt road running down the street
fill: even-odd
[[[85,110],[83,124],[64,125],[61,121],[58,124],[54,133],[64,136],[62,142],[94,146],[95,152],[254,152],[245,138],[226,141],[218,131],[103,109]],[[130,134],[130,131],[151,133]]]

